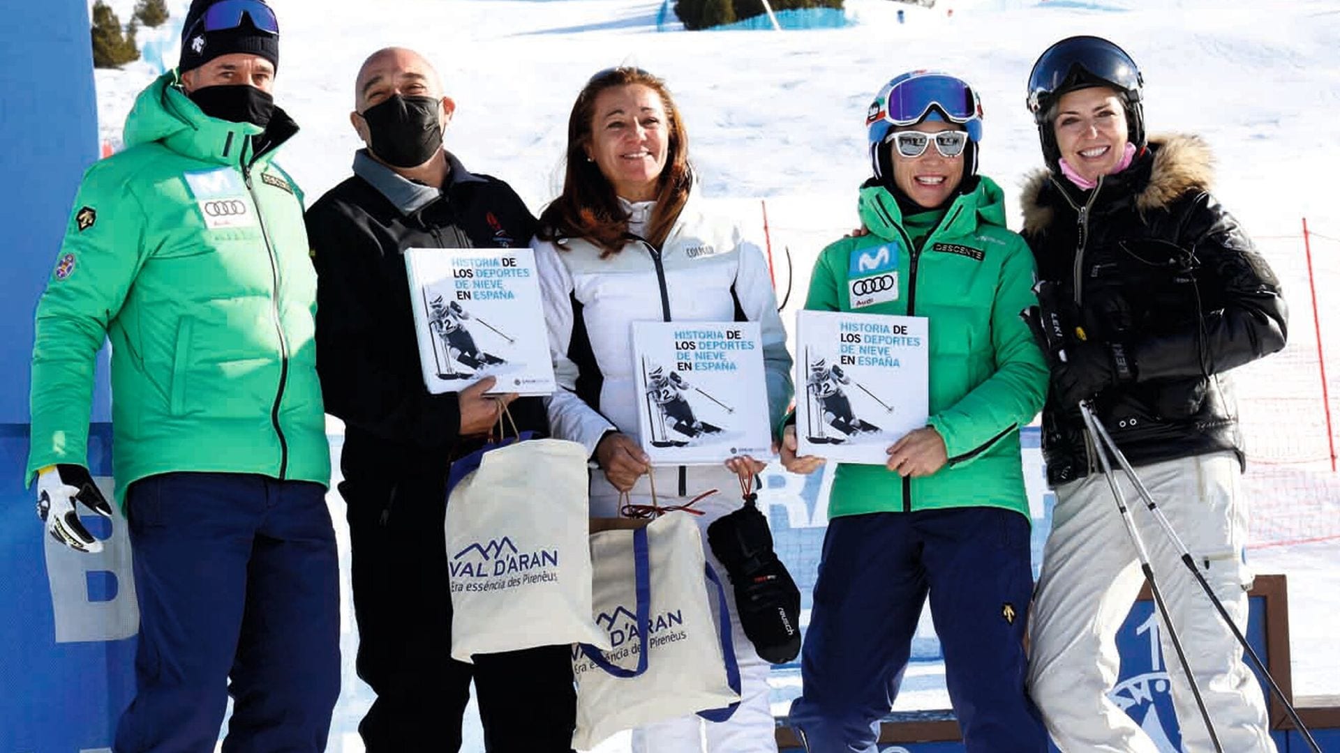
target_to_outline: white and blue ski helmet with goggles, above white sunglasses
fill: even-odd
[[[927,119],[963,126],[969,139],[963,177],[977,174],[977,143],[982,139],[982,100],[977,91],[963,79],[945,72],[910,71],[886,83],[866,113],[870,163],[876,178],[892,181],[892,165],[884,145],[892,139],[895,129]]]

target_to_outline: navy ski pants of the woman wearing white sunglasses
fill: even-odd
[[[1024,690],[1029,521],[1000,508],[870,513],[828,523],[804,690],[791,722],[809,753],[875,753],[930,594],[949,698],[969,753],[1043,753]]]

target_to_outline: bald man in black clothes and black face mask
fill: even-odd
[[[354,176],[307,210],[307,232],[316,368],[327,413],[344,421],[358,675],[377,693],[359,733],[368,753],[458,750],[473,679],[489,750],[567,752],[576,715],[567,646],[450,658],[450,462],[482,446],[507,403],[521,430],[547,431],[544,406],[484,395],[493,378],[427,393],[403,259],[409,248],[525,247],[536,220],[505,182],[442,149],[454,103],[421,55],[375,52],[355,105],[367,149]]]

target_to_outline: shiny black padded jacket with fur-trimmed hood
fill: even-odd
[[[1134,465],[1215,450],[1241,462],[1225,371],[1284,347],[1280,283],[1210,194],[1198,137],[1155,137],[1099,181],[1083,190],[1038,172],[1022,197],[1038,279],[1087,336],[1067,348],[1043,414],[1048,480],[1097,470],[1084,397]]]

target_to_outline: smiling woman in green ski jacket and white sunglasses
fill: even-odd
[[[886,465],[836,469],[791,721],[811,753],[872,750],[929,592],[967,750],[1041,752],[1024,690],[1033,580],[1018,439],[1048,385],[1020,319],[1036,301],[1033,259],[1005,228],[1000,188],[977,174],[981,105],[965,82],[900,75],[867,126],[870,233],[823,251],[805,308],[927,318],[930,419]],[[793,425],[781,454],[793,472],[823,462],[796,457]]]

